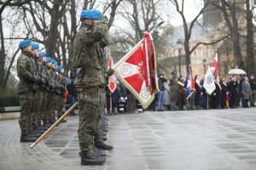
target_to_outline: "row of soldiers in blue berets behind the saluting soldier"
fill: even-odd
[[[62,115],[66,90],[64,69],[55,59],[47,57],[46,52],[39,52],[37,42],[26,39],[20,42],[19,48],[20,142],[34,142],[56,121],[55,109],[58,117]]]

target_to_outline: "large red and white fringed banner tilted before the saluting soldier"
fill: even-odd
[[[146,109],[159,89],[153,38],[148,32],[143,33],[143,40],[114,65],[113,71]]]

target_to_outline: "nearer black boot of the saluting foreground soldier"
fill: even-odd
[[[106,162],[106,158],[94,156],[92,153],[80,152],[79,155],[81,156],[81,165],[102,165]]]

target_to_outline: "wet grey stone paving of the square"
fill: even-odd
[[[1,170],[255,170],[256,109],[165,111],[108,116],[108,161],[80,166],[78,117],[34,149],[20,143],[17,120],[0,122]]]

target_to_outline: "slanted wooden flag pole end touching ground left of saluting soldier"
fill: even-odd
[[[73,111],[74,108],[76,108],[79,105],[78,102],[76,102],[69,110],[66,111],[64,115],[62,115],[47,131],[45,131],[31,146],[30,149],[32,149],[36,144],[38,144],[44,137],[57,125],[59,124],[71,111]]]

